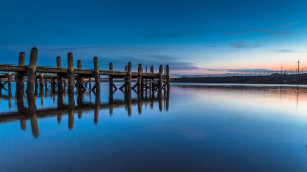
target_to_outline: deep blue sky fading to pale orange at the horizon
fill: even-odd
[[[0,63],[38,48],[38,65],[128,61],[183,73],[307,66],[307,1],[3,1]],[[306,60],[305,60],[306,59]],[[307,67],[306,67],[307,69]]]

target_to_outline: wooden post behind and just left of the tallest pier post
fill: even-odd
[[[25,53],[20,52],[18,58],[18,66],[25,65]],[[25,92],[25,79],[24,79],[24,72],[16,72],[15,82],[16,82],[16,93],[17,94],[24,94]]]

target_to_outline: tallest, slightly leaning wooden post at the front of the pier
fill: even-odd
[[[30,53],[28,83],[27,83],[27,90],[26,90],[27,94],[33,94],[34,92],[36,62],[37,62],[37,48],[33,47]]]

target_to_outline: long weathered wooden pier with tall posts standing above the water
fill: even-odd
[[[147,89],[162,91],[169,87],[169,66],[159,66],[159,73],[155,73],[153,66],[150,66],[149,72],[143,72],[142,64],[138,65],[138,71],[132,71],[132,64],[130,62],[125,66],[124,71],[113,70],[113,63],[109,63],[108,70],[99,69],[98,58],[93,58],[94,69],[83,69],[81,60],[77,61],[77,68],[74,68],[74,57],[72,53],[68,53],[68,66],[62,67],[61,57],[56,57],[56,67],[50,66],[37,66],[38,51],[33,47],[30,53],[29,65],[25,64],[24,52],[19,53],[18,64],[0,64],[0,79],[6,78],[6,81],[0,82],[0,90],[12,82],[12,77],[16,82],[16,90],[18,94],[24,94],[25,81],[27,81],[27,94],[37,93],[38,87],[40,92],[43,91],[43,86],[47,87],[48,84],[55,91],[65,91],[65,87],[68,87],[67,92],[71,95],[71,101],[73,101],[74,88],[77,87],[78,94],[82,94],[86,90],[87,84],[90,85],[90,89],[99,97],[100,95],[100,76],[108,76],[109,91],[115,92],[118,88],[115,86],[114,79],[123,79],[124,84],[119,88],[121,91],[127,93],[131,92],[131,89],[138,92],[147,91]],[[95,85],[92,87],[92,80],[94,79]],[[131,81],[136,79],[137,83],[131,85]],[[39,84],[38,84],[39,82]],[[137,87],[137,89],[136,89]],[[97,100],[99,101],[99,100]]]

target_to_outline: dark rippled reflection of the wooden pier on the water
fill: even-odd
[[[13,83],[13,87],[14,86],[15,84]],[[101,83],[101,87],[102,89],[106,90],[108,84]],[[16,92],[18,89],[19,88],[16,88]],[[53,88],[49,89],[46,87],[45,90],[43,90],[43,87],[40,87],[39,94],[24,95],[16,93],[16,107],[12,107],[13,96],[11,91],[11,86],[9,89],[4,89],[1,91],[7,94],[2,95],[1,98],[3,99],[2,101],[8,102],[8,106],[1,106],[0,125],[4,124],[5,122],[19,120],[20,129],[26,130],[27,120],[29,120],[31,131],[34,137],[39,136],[39,126],[37,120],[40,118],[57,117],[58,124],[61,124],[62,116],[67,115],[68,128],[72,130],[74,128],[75,114],[77,114],[78,118],[82,118],[83,111],[87,111],[87,114],[88,112],[94,111],[94,124],[97,124],[99,121],[99,113],[101,109],[109,109],[109,115],[112,116],[114,108],[124,107],[127,115],[131,116],[133,113],[133,106],[137,106],[138,114],[142,113],[142,109],[144,107],[147,108],[147,106],[150,106],[152,109],[155,102],[159,104],[158,107],[160,111],[163,110],[163,101],[165,110],[168,110],[169,106],[169,88],[165,91],[162,90],[161,92],[155,91],[154,89],[149,91],[147,91],[147,89],[145,91],[133,91],[132,93],[129,91],[119,92],[116,93],[116,97],[114,97],[114,93],[112,91],[110,93],[107,92],[105,95],[96,96],[92,91],[85,91],[81,94],[78,91],[75,91],[74,94],[68,94],[62,91],[56,92]],[[122,94],[124,94],[123,100],[120,99]],[[105,99],[106,95],[108,95],[107,100]],[[92,102],[92,96],[95,97],[94,102]],[[37,104],[37,98],[39,98],[40,104]],[[52,102],[50,102],[50,99],[52,99]],[[77,102],[76,105],[75,99]],[[37,105],[40,106],[37,108]]]

